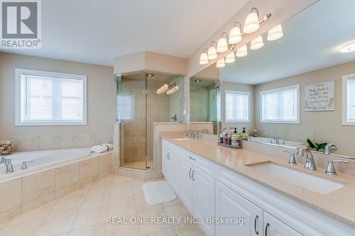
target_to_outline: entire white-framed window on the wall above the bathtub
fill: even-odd
[[[16,125],[86,125],[86,79],[16,69]]]

